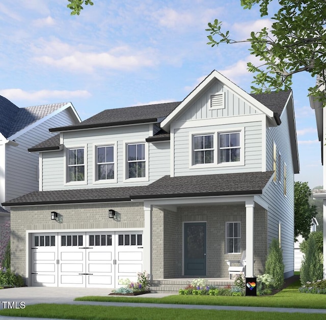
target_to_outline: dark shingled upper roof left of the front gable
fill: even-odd
[[[179,103],[180,102],[167,102],[107,109],[78,124],[51,128],[50,132],[159,122],[160,118],[167,117]]]

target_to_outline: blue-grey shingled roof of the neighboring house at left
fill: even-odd
[[[19,131],[35,124],[54,112],[70,106],[78,121],[79,116],[74,111],[71,102],[61,102],[52,104],[42,104],[18,108],[17,105],[10,102],[7,98],[0,96],[0,133],[5,138],[17,135]]]

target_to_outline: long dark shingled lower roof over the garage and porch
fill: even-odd
[[[274,172],[164,176],[146,186],[35,191],[3,203],[6,206],[115,202],[132,199],[262,194]]]

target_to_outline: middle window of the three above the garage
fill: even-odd
[[[114,179],[114,146],[100,146],[96,151],[97,180]]]

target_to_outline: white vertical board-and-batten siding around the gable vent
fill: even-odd
[[[210,110],[211,95],[224,92],[225,104],[224,108]],[[220,117],[232,117],[248,114],[256,114],[258,111],[251,105],[241,100],[227,87],[223,86],[219,81],[207,88],[199,97],[192,102],[187,110],[178,118],[177,121],[198,120]]]

